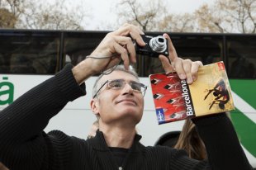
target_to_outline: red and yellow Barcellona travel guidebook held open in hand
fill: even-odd
[[[192,85],[175,72],[151,74],[149,79],[159,124],[235,109],[222,61],[199,68]]]

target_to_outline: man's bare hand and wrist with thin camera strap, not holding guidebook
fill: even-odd
[[[112,68],[121,59],[126,69],[129,69],[130,62],[136,62],[134,40],[141,46],[145,45],[140,35],[144,35],[144,32],[130,24],[108,33],[92,54],[73,68],[77,83],[83,83],[93,74]]]

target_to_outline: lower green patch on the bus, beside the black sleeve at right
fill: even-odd
[[[256,124],[238,109],[231,111],[230,116],[240,143],[256,158]]]

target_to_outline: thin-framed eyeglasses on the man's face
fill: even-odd
[[[126,82],[124,79],[107,80],[105,83],[102,84],[102,87],[104,87],[105,84],[107,84],[107,87],[109,87],[109,88],[121,89],[121,88],[125,87],[126,83],[128,83],[130,85],[130,87],[132,88],[132,90],[134,90],[135,92],[141,92],[143,96],[145,95],[147,86],[145,86],[145,84],[143,84],[143,83],[138,83],[135,81]],[[97,92],[95,93],[93,98],[95,98],[97,96],[97,93],[100,92],[102,87],[100,87],[97,90]]]

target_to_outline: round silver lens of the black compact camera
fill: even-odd
[[[149,46],[157,53],[163,53],[167,49],[164,36],[156,36],[149,41]]]

